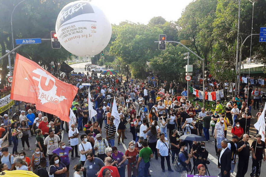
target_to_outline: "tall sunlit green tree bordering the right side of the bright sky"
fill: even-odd
[[[179,39],[191,40],[199,56],[207,58],[213,45],[213,27],[217,0],[197,0],[186,6],[176,22]]]

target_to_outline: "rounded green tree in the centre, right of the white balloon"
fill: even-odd
[[[120,64],[129,65],[133,77],[143,78],[146,62],[159,52],[154,41],[162,30],[152,25],[121,23],[116,33],[110,54],[118,58]]]

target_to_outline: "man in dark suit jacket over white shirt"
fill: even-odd
[[[227,141],[221,142],[222,150],[218,160],[218,168],[221,169],[222,177],[230,177],[231,170],[231,150],[227,147]]]

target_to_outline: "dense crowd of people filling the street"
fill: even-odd
[[[237,157],[236,176],[244,176],[248,170],[250,151],[252,174],[256,177],[260,175],[262,160],[266,160],[265,141],[257,135],[252,145],[248,142],[250,111],[255,103],[259,109],[261,99],[261,91],[257,87],[243,96],[236,95],[225,108],[221,100],[216,100],[212,112],[205,110],[200,100],[195,105],[188,101],[186,88],[180,89],[182,87],[174,82],[160,83],[156,76],[149,76],[147,81],[137,81],[129,76],[123,79],[120,75],[97,76],[94,72],[87,72],[61,75],[59,79],[79,88],[72,102],[76,124],[69,125],[55,115],[40,112],[32,103],[25,103],[25,109],[16,112],[11,119],[4,114],[0,117],[0,144],[6,140],[8,143],[0,148],[0,171],[31,170],[40,177],[124,177],[127,171],[127,176],[147,177],[151,176],[150,159],[155,156],[156,160],[160,158],[163,172],[166,160],[170,172],[173,172],[171,163],[172,166],[181,163],[182,177],[192,170],[194,174],[205,175],[210,163],[205,142],[213,136],[220,176],[233,173]],[[90,83],[89,88],[82,83]],[[91,94],[90,101],[97,112],[94,117],[89,115],[88,94]],[[111,114],[114,100],[120,118],[118,125],[114,124]],[[232,140],[229,142],[226,141],[230,133],[227,132],[228,127],[232,127]],[[61,133],[65,128],[68,142],[62,140]],[[130,131],[132,137],[126,137],[126,131]],[[181,135],[189,134],[200,135],[204,141],[180,139]],[[31,147],[29,136],[36,137],[35,145]],[[19,139],[22,143],[20,152],[17,150]],[[118,151],[117,147],[124,143],[124,139],[131,140],[128,149]],[[12,142],[12,153],[9,153],[7,147]],[[26,157],[25,142],[29,150],[34,149],[31,158]],[[78,158],[80,164],[71,164],[69,154],[72,160]],[[69,174],[70,164],[74,166],[74,174]]]

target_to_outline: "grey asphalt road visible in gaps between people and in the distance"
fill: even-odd
[[[77,64],[71,65],[71,67],[74,68],[75,72],[79,72],[79,71],[82,72],[83,71],[84,73],[86,73],[87,71],[86,72],[84,71],[84,65],[85,64],[86,63],[77,63]],[[102,128],[102,132],[105,132],[104,128]],[[228,130],[228,134],[227,134],[227,139],[228,140],[231,140],[231,137],[232,137],[230,132],[231,132],[231,129]],[[84,133],[84,131],[81,131],[80,135],[83,134],[83,133]],[[211,133],[211,130],[210,130],[210,133]],[[117,146],[117,137],[118,136],[116,135],[115,146],[117,146],[118,150],[121,151],[122,153],[125,153],[126,149],[128,148],[128,143],[130,141],[132,141],[132,138],[133,138],[131,132],[129,132],[129,125],[128,124],[127,124],[127,129],[125,131],[125,135],[126,135],[127,139],[124,140],[124,144],[122,143],[119,146]],[[168,135],[169,135],[169,133],[168,133]],[[66,142],[66,145],[68,145],[68,134],[65,131],[64,131],[64,133],[62,133],[62,137],[63,137],[62,138],[63,141]],[[103,137],[105,137],[105,133],[103,133]],[[80,141],[80,138],[79,138],[79,141]],[[30,142],[31,148],[34,150],[34,148],[36,147],[36,145],[35,145],[35,137],[30,137],[29,142]],[[251,142],[252,142],[252,140],[250,140],[250,143]],[[215,155],[216,153],[215,153],[214,146],[215,146],[214,138],[211,137],[210,141],[206,142],[206,150],[209,152],[208,160],[210,160],[210,164],[207,165],[207,167],[208,167],[208,170],[210,172],[210,176],[217,176],[218,173],[220,172],[220,169],[217,168],[218,157]],[[27,146],[25,145],[25,147],[27,147]],[[9,152],[10,153],[12,152],[12,148],[13,148],[13,146],[9,147]],[[19,140],[18,151],[20,151],[21,148],[22,148],[22,143],[21,143],[21,140]],[[26,152],[27,157],[29,157],[31,159],[33,151],[29,151],[26,148],[25,152]],[[71,156],[70,155],[69,155],[69,158],[70,158],[70,167],[69,167],[70,173],[69,174],[70,174],[70,177],[72,177],[73,173],[74,173],[73,167],[74,167],[74,165],[79,163],[80,159],[76,157],[74,160],[71,160]],[[191,163],[193,165],[192,160],[191,160]],[[150,174],[152,176],[177,176],[177,177],[180,176],[179,173],[177,173],[175,171],[174,172],[168,172],[166,170],[166,172],[163,173],[162,170],[161,170],[161,167],[160,167],[160,158],[158,160],[156,160],[155,158],[152,158],[150,164],[151,164],[151,166],[150,166]],[[263,167],[265,167],[265,164],[266,164],[265,162],[262,162],[261,176],[264,176],[263,174],[266,173],[265,168],[263,168]],[[245,177],[249,176],[249,173],[251,171],[251,165],[252,165],[252,160],[249,159],[249,168],[248,168],[248,172],[246,173]],[[167,169],[166,162],[165,162],[165,166],[166,166],[166,169]],[[172,166],[172,169],[174,169],[173,166]],[[48,170],[48,168],[47,168],[47,170]],[[236,170],[237,170],[237,164],[236,164],[236,167],[234,169],[235,172],[231,176],[234,177],[236,175]],[[126,176],[127,176],[127,173],[126,173]]]

